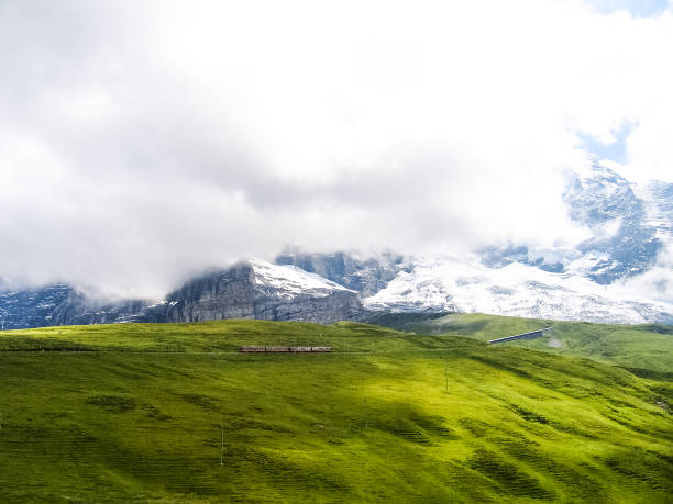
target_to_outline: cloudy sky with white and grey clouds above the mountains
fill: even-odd
[[[573,243],[569,169],[671,179],[663,0],[0,0],[0,45],[14,281]]]

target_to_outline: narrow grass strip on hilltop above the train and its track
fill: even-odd
[[[368,324],[322,326],[302,322],[229,320],[196,324],[111,324],[42,327],[0,333],[0,351],[239,352],[244,345],[332,346],[339,352],[400,352],[442,349],[443,338]],[[481,343],[462,339],[474,347]]]

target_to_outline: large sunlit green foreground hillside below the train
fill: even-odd
[[[0,500],[671,502],[666,391],[591,360],[353,323],[4,332]]]

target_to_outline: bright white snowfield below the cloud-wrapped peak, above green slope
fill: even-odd
[[[673,305],[622,298],[570,273],[520,262],[489,268],[478,255],[411,259],[388,287],[364,300],[369,310],[455,311],[587,322],[673,322]]]

